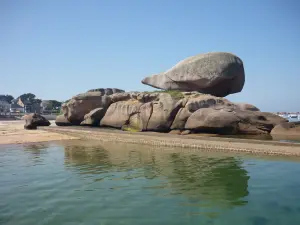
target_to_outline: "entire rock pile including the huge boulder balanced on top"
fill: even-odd
[[[143,79],[142,83],[163,91],[98,88],[76,95],[62,106],[56,124],[177,134],[266,134],[287,121],[223,98],[240,92],[244,82],[239,57],[225,52],[200,54]]]

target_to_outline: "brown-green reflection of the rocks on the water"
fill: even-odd
[[[143,188],[168,190],[164,195],[182,195],[191,203],[209,201],[218,206],[247,203],[249,176],[236,157],[129,144],[68,145],[65,165],[80,175],[98,174],[101,181],[108,174],[118,177],[120,186],[128,179],[157,180],[159,184]]]

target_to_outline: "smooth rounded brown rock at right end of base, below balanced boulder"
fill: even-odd
[[[218,134],[267,134],[276,124],[286,121],[271,113],[235,109],[203,108],[194,112],[186,129]]]

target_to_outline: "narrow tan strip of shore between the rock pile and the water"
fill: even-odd
[[[300,144],[298,143],[207,136],[179,136],[154,132],[130,133],[120,130],[85,127],[41,127],[40,129],[53,133],[67,134],[83,140],[180,147],[211,152],[300,156]]]

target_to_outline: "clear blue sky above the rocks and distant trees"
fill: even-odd
[[[226,51],[246,72],[230,100],[300,111],[299,12],[299,0],[0,0],[0,94],[151,90],[145,76]]]

